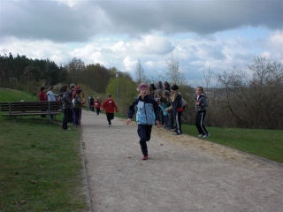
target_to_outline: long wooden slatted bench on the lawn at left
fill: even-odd
[[[60,101],[41,101],[41,102],[0,102],[0,111],[9,113],[2,116],[36,116],[36,115],[59,115],[62,108]]]

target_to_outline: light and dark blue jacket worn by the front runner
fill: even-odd
[[[135,110],[137,110],[136,121],[138,125],[155,125],[156,120],[159,120],[159,106],[157,101],[149,95],[144,96],[144,101],[142,96],[135,99],[129,107],[127,116],[132,119]]]

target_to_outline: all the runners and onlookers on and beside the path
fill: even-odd
[[[39,94],[40,101],[54,101],[56,100],[53,93],[53,87],[45,94],[44,87],[41,88]],[[134,113],[136,113],[136,121],[138,124],[138,135],[140,137],[140,145],[142,148],[142,160],[147,160],[149,157],[147,141],[150,140],[152,125],[157,127],[164,127],[166,130],[173,130],[174,135],[180,135],[181,130],[181,115],[187,106],[187,102],[182,98],[179,92],[178,85],[172,85],[165,81],[159,81],[157,87],[154,84],[149,86],[142,83],[137,88],[139,96],[129,106],[128,118],[126,125],[128,125]],[[59,100],[63,102],[64,117],[62,121],[62,129],[69,130],[68,117],[72,113],[73,125],[81,126],[81,108],[85,105],[84,95],[80,87],[74,84],[61,87],[59,92]],[[99,97],[94,101],[93,97],[88,98],[89,110],[96,109],[98,116],[101,110],[105,110],[108,126],[111,127],[111,120],[114,118],[114,112],[119,112],[116,102],[111,98],[111,94],[107,95],[107,99],[102,103]],[[208,106],[206,95],[203,92],[203,87],[196,88],[195,95],[195,111],[196,119],[195,126],[198,130],[199,137],[208,137],[210,133],[203,125],[203,120],[206,115],[206,107]]]

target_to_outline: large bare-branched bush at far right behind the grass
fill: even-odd
[[[251,74],[249,74],[251,73]],[[233,68],[218,76],[222,99],[243,127],[283,129],[282,64],[256,57],[247,70]]]

